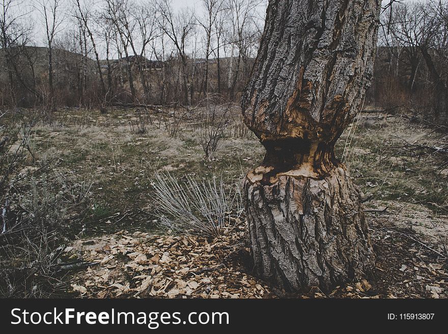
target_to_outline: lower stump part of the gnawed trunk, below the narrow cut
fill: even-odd
[[[323,179],[285,175],[268,185],[250,175],[244,204],[258,276],[288,292],[372,276],[368,225],[343,167]]]

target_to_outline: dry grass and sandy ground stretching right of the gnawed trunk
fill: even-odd
[[[407,150],[403,143],[437,144],[440,133],[409,117],[361,114],[340,140],[355,183],[371,209],[387,208],[390,223],[411,228],[446,253],[448,239],[448,175],[446,156]],[[350,135],[348,136],[348,134]],[[345,153],[344,153],[345,152]]]

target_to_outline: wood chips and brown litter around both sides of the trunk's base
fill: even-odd
[[[338,286],[331,293],[318,287],[298,298],[446,298],[446,264],[411,239],[371,221],[376,252],[374,279]],[[71,291],[93,298],[275,298],[273,288],[252,275],[246,227],[216,238],[154,235],[122,230],[80,239],[67,255],[95,262],[75,272]],[[278,292],[277,292],[278,294]]]

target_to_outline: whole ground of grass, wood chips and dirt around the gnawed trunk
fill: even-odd
[[[198,120],[185,122],[179,113],[143,119],[134,109],[105,115],[65,109],[51,124],[33,127],[17,171],[21,198],[42,202],[36,197],[74,185],[86,198],[62,210],[67,228],[61,258],[90,265],[62,275],[66,284],[55,295],[279,295],[253,275],[244,220],[217,237],[170,234],[157,224],[151,186],[156,173],[221,177],[233,185],[263,159],[263,147],[238,112],[211,159],[204,157]],[[146,131],[137,133],[141,126]],[[448,297],[448,168],[446,158],[431,149],[439,137],[439,129],[414,117],[360,114],[340,139],[337,155],[365,199],[375,274],[332,292],[316,287],[291,297]],[[19,143],[17,138],[10,152]],[[59,186],[50,186],[56,179]]]

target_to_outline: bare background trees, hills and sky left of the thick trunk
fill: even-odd
[[[256,55],[266,2],[199,3],[176,9],[170,0],[3,0],[0,102],[51,111],[191,105],[210,93],[235,99]]]

